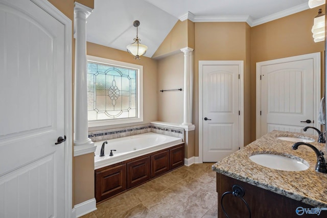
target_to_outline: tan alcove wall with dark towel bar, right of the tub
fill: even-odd
[[[184,91],[161,89],[184,89],[184,53],[169,56],[158,61],[158,120],[183,123]]]

